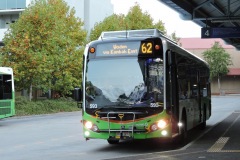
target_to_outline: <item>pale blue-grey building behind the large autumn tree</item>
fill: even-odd
[[[84,21],[84,29],[90,33],[96,22],[113,14],[111,0],[65,0],[70,8],[75,8],[76,17]],[[31,0],[0,0],[0,46],[11,23],[14,23]],[[104,7],[101,7],[104,6]]]

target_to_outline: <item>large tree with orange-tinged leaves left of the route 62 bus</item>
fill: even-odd
[[[17,89],[57,90],[80,84],[83,22],[63,0],[35,0],[10,26],[2,48],[3,65],[14,70]]]

